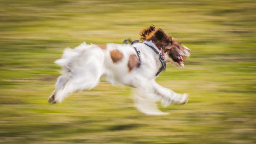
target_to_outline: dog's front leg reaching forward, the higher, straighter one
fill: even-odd
[[[167,89],[155,82],[155,80],[151,83],[154,88],[154,93],[162,98],[162,105],[167,107],[172,104],[186,104],[189,99],[188,93],[179,94],[173,92],[170,89]]]

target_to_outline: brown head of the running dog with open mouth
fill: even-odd
[[[165,61],[176,67],[184,67],[183,60],[190,56],[191,50],[165,33],[163,29],[156,29],[154,25],[145,28],[140,32],[141,40],[153,41],[158,48],[163,49]]]

